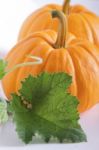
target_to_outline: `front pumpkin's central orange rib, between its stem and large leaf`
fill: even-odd
[[[53,60],[53,62],[51,60]],[[65,62],[66,64],[63,62]],[[77,95],[77,87],[76,87],[76,80],[75,80],[75,69],[74,69],[72,59],[71,59],[67,50],[64,50],[64,48],[62,48],[62,49],[55,49],[54,51],[52,51],[49,55],[49,59],[46,62],[44,70],[48,71],[48,72],[52,72],[52,73],[61,71],[61,72],[66,72],[66,73],[69,73],[70,75],[72,75],[73,76],[73,83],[70,87],[70,89],[71,89],[70,91],[72,92],[72,94],[74,96]]]

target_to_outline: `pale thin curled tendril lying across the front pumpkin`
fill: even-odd
[[[29,58],[32,58],[34,60],[36,60],[35,62],[26,62],[26,63],[21,63],[21,64],[17,64],[15,65],[12,69],[6,71],[6,75],[13,72],[14,70],[20,68],[20,67],[25,67],[25,66],[33,66],[33,65],[38,65],[42,63],[42,59],[36,56],[32,56],[32,55],[28,55]],[[6,76],[5,75],[5,76]]]

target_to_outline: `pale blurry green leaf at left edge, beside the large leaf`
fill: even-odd
[[[7,103],[0,98],[0,124],[8,121]]]

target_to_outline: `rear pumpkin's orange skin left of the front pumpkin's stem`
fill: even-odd
[[[45,7],[33,12],[23,23],[19,33],[19,39],[21,40],[27,37],[29,34],[44,29],[58,30],[58,20],[52,19],[50,11],[61,10],[59,5],[46,5]]]

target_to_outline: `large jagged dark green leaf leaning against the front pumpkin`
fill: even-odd
[[[66,143],[86,141],[78,123],[78,99],[66,91],[71,82],[71,76],[65,73],[42,73],[26,78],[19,95],[12,95],[10,111],[16,131],[25,143],[36,133],[46,142],[51,137]]]

